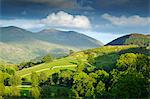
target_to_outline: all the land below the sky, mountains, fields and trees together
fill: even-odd
[[[2,97],[148,97],[149,35],[130,34],[103,46],[76,32],[68,36],[68,32],[58,30],[31,33],[17,27],[3,29],[0,43]],[[7,36],[8,33],[13,35]]]

